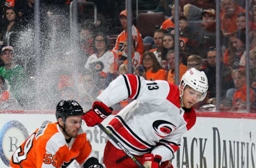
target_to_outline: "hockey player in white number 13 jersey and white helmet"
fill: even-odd
[[[169,160],[179,149],[181,136],[196,122],[193,105],[205,98],[207,89],[206,75],[195,68],[182,76],[179,88],[164,80],[121,75],[82,117],[93,127],[111,114],[109,107],[133,99],[107,128],[146,168],[172,167]],[[103,163],[107,168],[138,167],[112,140],[106,144]]]

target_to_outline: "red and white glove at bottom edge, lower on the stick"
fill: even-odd
[[[156,155],[154,157],[153,154],[145,154],[143,156],[143,165],[145,168],[159,168],[161,165],[161,159],[162,157],[159,155]]]

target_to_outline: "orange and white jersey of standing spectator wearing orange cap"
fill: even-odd
[[[132,38],[135,40],[135,51],[139,52],[140,55],[143,55],[143,41],[141,34],[139,30],[133,25],[132,26]],[[116,39],[116,45],[113,48],[113,50],[118,52],[123,52],[124,50],[124,41],[127,39],[127,31],[122,31],[117,39]]]

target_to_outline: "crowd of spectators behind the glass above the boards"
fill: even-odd
[[[97,23],[94,23],[93,10],[86,9],[83,4],[85,0],[78,1],[78,49],[73,51],[60,47],[62,43],[66,43],[63,40],[64,36],[70,38],[68,33],[70,1],[40,1],[41,70],[36,71],[38,62],[35,56],[29,55],[34,54],[31,51],[33,45],[32,47],[22,45],[21,40],[22,34],[26,35],[28,29],[34,30],[34,1],[25,2],[0,1],[0,83],[2,83],[0,109],[35,110],[34,108],[38,107],[34,104],[45,102],[49,105],[43,110],[47,110],[52,107],[51,103],[54,101],[50,100],[52,98],[76,99],[83,106],[90,106],[111,80],[127,73],[127,11],[124,10],[124,4],[112,0],[104,2],[113,3],[114,7],[118,6],[118,14],[115,10],[106,15],[101,9]],[[156,9],[146,12],[163,12],[165,20],[156,28],[152,37],[141,34],[135,23],[132,26],[132,71],[147,80],[167,80],[175,83],[174,1],[161,0],[157,3]],[[102,6],[98,1],[95,1],[95,4]],[[250,105],[253,112],[256,108],[256,1],[250,1],[249,6]],[[220,10],[221,111],[245,111],[245,1],[222,0]],[[198,111],[216,111],[215,1],[180,0],[179,11],[179,77],[181,79],[190,68],[204,71],[209,81],[209,90],[205,100],[197,103],[195,108]],[[114,14],[116,14],[115,19]],[[115,20],[118,20],[118,29]],[[111,40],[113,38],[115,43]],[[27,41],[23,42],[27,43]],[[150,48],[145,47],[148,43]],[[65,45],[71,46],[71,44]],[[74,55],[77,57],[75,58]],[[49,60],[51,65],[61,66],[50,69],[45,65]],[[51,74],[54,80],[51,86],[40,92],[46,95],[42,100],[36,98],[38,88],[35,86],[38,85],[38,74],[46,77],[42,82],[50,81],[49,75],[43,73]],[[17,105],[6,106],[13,104],[9,102],[13,99]],[[123,100],[116,105],[116,109],[124,107],[129,102],[130,100]]]

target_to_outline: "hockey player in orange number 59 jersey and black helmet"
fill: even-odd
[[[103,168],[92,157],[92,147],[81,131],[83,108],[75,100],[61,100],[56,107],[56,123],[38,128],[17,148],[11,167],[67,167],[74,159],[84,168]]]

